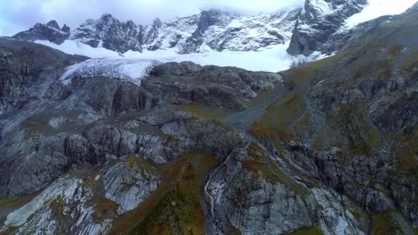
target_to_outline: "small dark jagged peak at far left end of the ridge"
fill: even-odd
[[[69,31],[67,25],[60,28],[56,21],[50,21],[46,24],[36,23],[30,30],[20,32],[13,38],[25,41],[47,40],[51,43],[61,44],[69,38]]]

